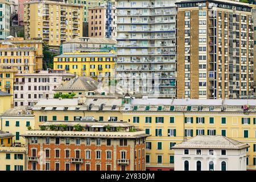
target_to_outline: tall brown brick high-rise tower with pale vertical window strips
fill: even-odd
[[[253,18],[248,3],[179,1],[177,98],[253,94]]]

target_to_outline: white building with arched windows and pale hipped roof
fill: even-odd
[[[220,135],[197,135],[174,147],[175,171],[246,171],[245,143]]]

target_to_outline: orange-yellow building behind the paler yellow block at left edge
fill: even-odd
[[[31,47],[36,49],[35,56],[35,69],[42,70],[43,69],[43,40],[30,39],[24,40],[24,38],[8,38],[6,40],[0,40],[0,48],[6,48],[9,44],[16,47]],[[9,45],[10,46],[10,45]]]

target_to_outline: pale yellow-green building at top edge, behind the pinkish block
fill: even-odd
[[[82,21],[88,23],[88,14],[89,14],[89,8],[90,7],[96,7],[96,6],[101,6],[107,2],[111,2],[112,5],[115,5],[115,0],[68,0],[68,3],[72,3],[73,5],[82,5]]]

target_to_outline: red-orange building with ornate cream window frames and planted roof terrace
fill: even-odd
[[[28,170],[146,169],[145,140],[148,135],[130,123],[96,122],[92,117],[85,117],[82,122],[46,122],[40,127],[41,130],[27,131],[22,135],[28,146]],[[46,162],[39,163],[43,155]]]

